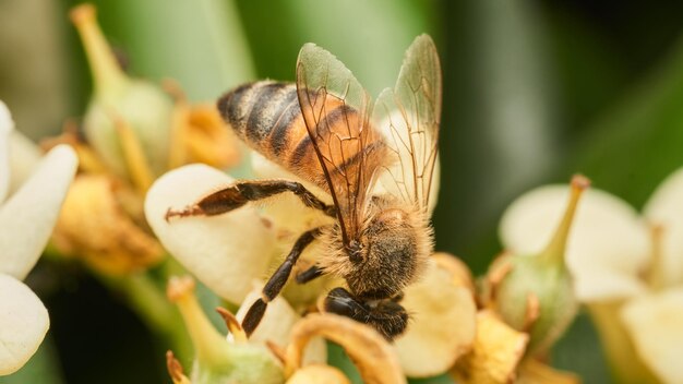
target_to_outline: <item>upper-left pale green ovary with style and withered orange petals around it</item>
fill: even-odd
[[[142,209],[152,182],[189,163],[233,166],[237,142],[211,103],[191,105],[170,81],[164,91],[129,77],[93,5],[74,8],[71,20],[85,47],[94,93],[82,127],[69,122],[62,135],[44,143],[70,144],[80,158],[53,244],[60,254],[77,256],[106,275],[144,271],[165,255]]]

